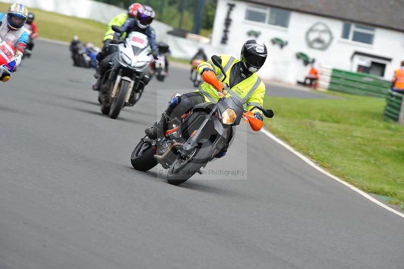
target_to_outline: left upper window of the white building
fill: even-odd
[[[245,19],[261,23],[268,23],[287,28],[289,26],[290,12],[283,9],[268,8],[265,6],[248,5]]]

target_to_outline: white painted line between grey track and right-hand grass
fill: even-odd
[[[266,129],[261,129],[261,131],[263,133],[265,133],[265,135],[267,137],[269,137],[270,139],[272,139],[273,141],[275,141],[276,143],[278,143],[279,145],[283,146],[284,148],[286,148],[287,150],[289,150],[290,152],[292,152],[294,155],[296,155],[297,157],[299,157],[301,160],[305,161],[307,164],[309,164],[310,166],[312,166],[313,168],[315,168],[316,170],[322,172],[323,174],[331,177],[333,180],[345,185],[346,187],[348,187],[349,189],[351,189],[352,191],[355,191],[357,193],[359,193],[360,195],[362,195],[363,197],[365,197],[366,199],[370,200],[371,202],[383,207],[384,209],[387,209],[388,211],[404,218],[404,214],[398,212],[397,210],[387,206],[386,204],[378,201],[377,199],[373,198],[372,196],[370,196],[369,194],[367,194],[364,191],[361,191],[360,189],[358,189],[357,187],[354,187],[352,185],[350,185],[349,183],[341,180],[341,178],[331,174],[330,172],[324,170],[323,168],[321,168],[320,166],[316,165],[312,160],[310,160],[309,158],[307,158],[306,156],[302,155],[301,153],[295,151],[291,146],[289,146],[288,144],[286,144],[285,142],[283,142],[282,140],[280,140],[279,138],[277,138],[276,136],[274,136],[271,132],[269,132]]]

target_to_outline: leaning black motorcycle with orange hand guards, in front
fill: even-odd
[[[221,58],[212,57],[212,62],[224,74]],[[207,81],[207,80],[206,80]],[[226,151],[233,138],[233,127],[239,125],[241,119],[248,121],[253,130],[259,130],[263,122],[254,117],[251,111],[245,111],[243,104],[223,93],[223,84],[216,76],[209,84],[219,92],[221,98],[215,103],[201,103],[165,126],[164,136],[158,139],[142,138],[131,155],[132,166],[139,171],[147,171],[160,163],[167,172],[167,181],[179,185],[187,181],[208,162]],[[272,118],[272,110],[255,106],[268,118]],[[251,110],[252,110],[251,109]]]

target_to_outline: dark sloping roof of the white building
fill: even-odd
[[[404,32],[404,0],[246,0]]]

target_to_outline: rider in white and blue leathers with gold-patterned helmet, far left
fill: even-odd
[[[28,44],[29,35],[23,28],[28,10],[22,4],[13,4],[7,15],[0,13],[0,38],[9,41],[16,48],[16,68],[21,64],[22,55]]]

